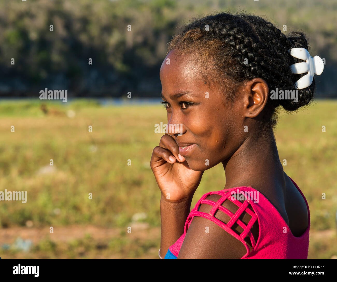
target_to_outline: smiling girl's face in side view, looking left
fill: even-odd
[[[225,106],[218,85],[210,86],[202,80],[191,56],[182,57],[170,51],[161,65],[160,80],[162,99],[167,102],[168,128],[172,125],[172,129],[177,129],[168,134],[180,146],[179,152],[188,166],[203,171],[230,158],[247,132],[242,100]],[[170,64],[166,63],[168,58]],[[189,144],[194,145],[181,148]]]

